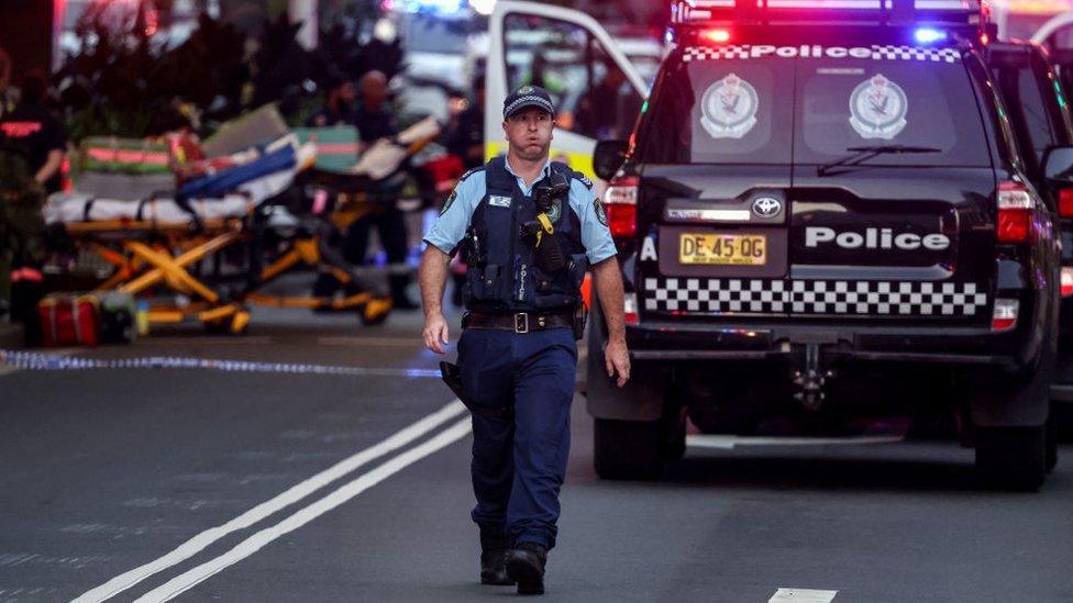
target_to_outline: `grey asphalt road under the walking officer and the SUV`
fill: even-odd
[[[513,596],[477,583],[468,422],[419,332],[276,311],[71,350],[362,375],[0,367],[0,603]],[[1073,601],[1068,447],[1009,494],[945,442],[690,447],[657,483],[605,482],[580,395],[573,443],[547,600]]]

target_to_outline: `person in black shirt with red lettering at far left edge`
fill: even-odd
[[[38,338],[34,313],[43,290],[47,193],[60,189],[64,126],[45,107],[48,86],[33,72],[13,111],[0,118],[0,255],[11,260],[11,317],[25,325],[26,343]]]

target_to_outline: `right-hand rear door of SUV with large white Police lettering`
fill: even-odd
[[[996,177],[962,53],[826,51],[798,59],[796,93],[794,310],[989,320]]]

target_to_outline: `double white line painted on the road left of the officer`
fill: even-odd
[[[321,471],[320,473],[317,473],[306,481],[278,494],[272,500],[263,502],[250,511],[246,511],[234,520],[198,534],[186,543],[179,545],[167,555],[145,563],[144,566],[121,573],[108,582],[85,592],[81,596],[75,599],[75,602],[96,603],[107,601],[108,599],[111,599],[112,596],[115,596],[117,594],[130,589],[146,578],[180,563],[190,557],[193,557],[198,552],[204,550],[206,547],[212,545],[224,536],[240,529],[245,529],[272,515],[273,513],[276,513],[290,504],[298,502],[324,485],[328,485],[329,483],[346,476],[347,473],[351,473],[352,471],[355,471],[364,465],[372,462],[376,458],[394,453],[395,450],[407,446],[421,436],[435,429],[440,425],[443,425],[444,423],[457,417],[464,412],[465,406],[462,405],[462,402],[455,400],[443,409],[399,431],[379,444],[366,448],[335,464],[329,469],[325,469],[324,471]],[[161,587],[157,587],[142,595],[140,599],[137,599],[137,601],[144,603],[155,603],[175,599],[179,594],[190,590],[198,583],[209,579],[229,566],[250,557],[276,538],[298,529],[324,513],[328,513],[336,506],[350,501],[354,496],[384,481],[390,476],[401,471],[413,462],[417,462],[436,450],[445,448],[451,444],[466,437],[466,435],[469,434],[469,417],[466,416],[465,418],[451,425],[451,427],[447,429],[436,434],[434,437],[384,461],[376,468],[362,473],[357,478],[354,478],[331,493],[295,512],[292,515],[280,521],[276,525],[261,529],[235,545],[234,548],[224,552],[223,555],[206,561],[177,576],[176,578],[173,578],[172,580],[168,580]]]

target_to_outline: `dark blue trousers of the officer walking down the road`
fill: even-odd
[[[569,456],[573,332],[466,330],[458,366],[474,404],[515,407],[512,418],[473,415],[473,521],[483,532],[505,534],[511,545],[551,549]]]

